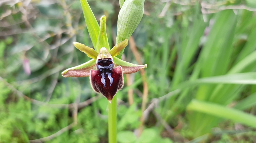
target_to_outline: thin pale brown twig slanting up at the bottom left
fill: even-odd
[[[65,131],[70,130],[74,125],[75,125],[75,123],[72,123],[50,136],[43,137],[40,139],[29,140],[29,142],[30,143],[41,143],[41,142],[46,142],[46,141],[52,140],[52,139],[56,138],[57,136],[63,134]]]

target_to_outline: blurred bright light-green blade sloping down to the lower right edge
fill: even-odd
[[[202,112],[256,127],[255,116],[244,113],[237,109],[228,108],[215,103],[203,102],[193,99],[187,106],[187,110]]]

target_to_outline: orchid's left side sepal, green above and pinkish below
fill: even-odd
[[[81,65],[71,67],[62,72],[62,76],[66,77],[88,77],[90,76],[90,70],[96,70],[96,59],[91,59]]]

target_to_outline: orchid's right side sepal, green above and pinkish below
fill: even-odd
[[[123,70],[123,74],[131,74],[131,73],[135,73],[143,68],[147,68],[148,65],[144,64],[144,65],[138,65],[138,64],[133,64],[133,63],[129,63],[126,61],[123,61],[117,57],[113,57],[114,63],[115,63],[115,67],[117,66],[121,66],[122,70]]]

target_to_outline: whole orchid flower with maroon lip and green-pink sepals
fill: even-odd
[[[101,93],[111,103],[112,98],[116,92],[123,88],[124,79],[123,74],[130,74],[139,71],[142,68],[147,68],[147,64],[137,65],[126,61],[123,61],[116,56],[127,46],[128,39],[125,39],[121,43],[114,46],[109,50],[108,43],[99,41],[107,41],[106,37],[106,17],[103,16],[100,19],[100,31],[97,42],[99,53],[92,48],[85,46],[84,44],[74,42],[74,46],[87,54],[91,60],[81,65],[71,67],[62,72],[64,77],[90,77],[90,84],[92,89]],[[99,46],[106,47],[99,47]]]

